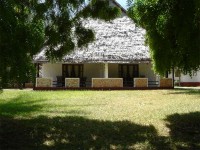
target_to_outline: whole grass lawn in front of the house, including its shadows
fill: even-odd
[[[200,149],[200,90],[0,93],[0,149]]]

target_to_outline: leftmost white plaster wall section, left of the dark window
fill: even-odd
[[[62,76],[62,64],[61,63],[46,63],[42,64],[42,77],[50,77],[56,80],[56,76]]]

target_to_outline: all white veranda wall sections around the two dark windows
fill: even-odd
[[[118,64],[108,64],[108,77],[118,78]],[[145,76],[149,78],[149,81],[155,81],[156,75],[151,69],[151,64],[139,64],[139,76]],[[103,78],[104,77],[104,65],[99,63],[84,64],[83,76],[87,77],[87,81],[91,81],[91,78]],[[56,76],[62,76],[62,64],[61,63],[45,63],[42,65],[42,77],[51,77],[56,80]]]

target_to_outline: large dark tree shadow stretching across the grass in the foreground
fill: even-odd
[[[2,149],[170,149],[153,126],[83,117],[0,116]]]

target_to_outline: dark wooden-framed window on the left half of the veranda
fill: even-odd
[[[82,78],[83,77],[83,64],[63,64],[62,76],[64,78]]]

